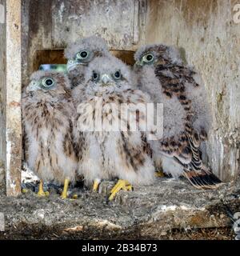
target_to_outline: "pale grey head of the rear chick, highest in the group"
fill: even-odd
[[[68,59],[67,70],[70,72],[79,65],[88,65],[94,58],[110,55],[106,42],[102,38],[91,36],[70,44],[64,51]]]

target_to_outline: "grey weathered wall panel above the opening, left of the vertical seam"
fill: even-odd
[[[92,34],[106,39],[112,50],[134,50],[143,35],[143,0],[23,0],[23,83],[34,70],[36,50],[61,49]]]

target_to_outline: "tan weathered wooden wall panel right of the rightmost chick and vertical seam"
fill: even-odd
[[[146,42],[183,47],[206,83],[214,115],[209,160],[224,180],[239,171],[240,24],[230,0],[150,0]]]

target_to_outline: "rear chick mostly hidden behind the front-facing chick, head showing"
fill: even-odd
[[[93,35],[70,43],[64,50],[64,55],[67,59],[67,74],[73,89],[82,82],[86,66],[96,57],[109,56],[110,52],[106,41]]]

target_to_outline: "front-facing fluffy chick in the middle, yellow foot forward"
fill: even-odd
[[[150,98],[131,88],[131,74],[130,68],[114,56],[95,58],[73,96],[78,106],[74,122],[78,172],[87,186],[94,184],[94,191],[102,179],[119,178],[110,201],[119,190],[151,184],[155,177],[154,163],[146,152],[146,138],[154,129],[150,133],[143,129],[146,114],[138,108],[138,103],[146,106]],[[126,110],[130,110],[129,119],[124,115]],[[134,121],[142,128],[130,129]]]

